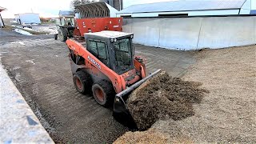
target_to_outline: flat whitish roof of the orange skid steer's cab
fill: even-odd
[[[119,37],[127,36],[130,34],[132,33],[125,33],[121,31],[110,31],[110,30],[103,30],[96,33],[86,33],[86,35],[94,35],[94,36],[103,37],[103,38],[119,38]]]

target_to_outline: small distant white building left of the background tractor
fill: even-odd
[[[41,23],[39,14],[34,13],[25,13],[25,14],[15,14],[15,20],[18,24],[26,23]]]

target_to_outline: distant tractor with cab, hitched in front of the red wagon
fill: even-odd
[[[74,11],[62,11],[58,13],[59,18],[56,18],[56,27],[58,34],[54,35],[55,39],[66,42],[67,38],[73,37],[74,31]]]

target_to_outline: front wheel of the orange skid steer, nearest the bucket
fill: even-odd
[[[92,92],[99,105],[108,107],[114,103],[114,88],[110,82],[105,80],[95,82]]]

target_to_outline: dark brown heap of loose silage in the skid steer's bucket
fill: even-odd
[[[139,130],[147,130],[158,119],[181,120],[194,115],[192,104],[201,102],[207,92],[200,85],[171,78],[162,70],[130,94],[127,107]]]

